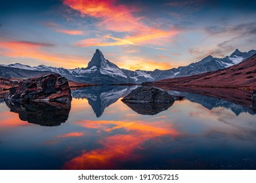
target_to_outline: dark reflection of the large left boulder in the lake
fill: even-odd
[[[24,103],[5,101],[11,112],[18,113],[20,120],[41,126],[58,126],[66,120],[70,113],[70,104],[64,103]]]

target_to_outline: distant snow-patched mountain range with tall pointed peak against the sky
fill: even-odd
[[[217,71],[232,65],[236,65],[245,59],[256,54],[256,50],[249,52],[240,52],[235,50],[230,56],[225,58],[213,58],[207,56],[201,61],[191,63],[188,66],[173,68],[169,70],[154,70],[154,71],[130,71],[120,69],[114,63],[105,59],[102,52],[96,49],[91,61],[86,68],[64,69],[39,65],[31,67],[20,63],[10,65],[0,65],[0,76],[12,78],[29,78],[45,73],[58,73],[73,80],[75,82],[83,82],[89,84],[123,84],[123,83],[142,83],[163,80],[165,78],[179,78],[183,76],[198,75],[209,71]]]

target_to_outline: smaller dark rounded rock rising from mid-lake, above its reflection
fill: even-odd
[[[173,97],[158,88],[142,86],[133,90],[122,101],[128,103],[171,103],[174,101]]]

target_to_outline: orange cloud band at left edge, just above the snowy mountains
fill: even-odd
[[[85,58],[70,55],[51,54],[43,48],[54,46],[53,44],[26,42],[26,41],[5,41],[0,42],[0,56],[11,58],[32,58],[45,61],[51,65],[63,65],[66,68],[81,67]]]

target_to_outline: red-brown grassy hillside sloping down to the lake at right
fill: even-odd
[[[158,85],[199,86],[216,88],[256,88],[256,54],[238,65],[223,70],[154,82]]]

